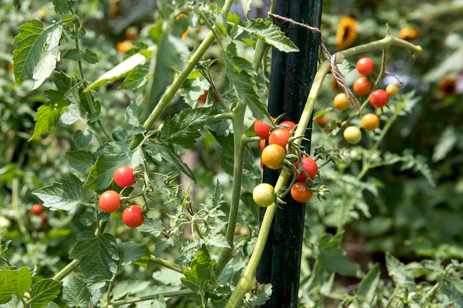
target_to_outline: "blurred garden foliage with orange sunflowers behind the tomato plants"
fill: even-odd
[[[74,149],[72,141],[69,141],[74,131],[85,129],[85,126],[59,123],[52,134],[27,141],[33,132],[35,111],[44,102],[43,90],[54,86],[47,81],[38,90],[29,91],[33,82],[27,80],[15,88],[11,61],[14,46],[11,43],[19,25],[33,18],[47,24],[56,16],[50,1],[14,2],[19,8],[14,6],[13,1],[0,4],[0,228],[8,228],[4,238],[13,240],[8,251],[11,263],[29,268],[37,265],[34,279],[38,280],[52,276],[53,272],[66,265],[76,235],[90,228],[77,219],[84,209],[72,216],[45,209],[46,221],[29,215],[32,205],[40,201],[31,191],[50,185],[60,177],[67,178],[72,171],[65,152]],[[195,14],[187,15],[178,9],[184,1],[78,2],[78,14],[86,29],[81,45],[92,48],[100,59],[91,67],[84,64],[87,66],[84,70],[88,80],[98,78],[118,64],[125,54],[131,53],[131,48],[143,46],[140,43],[158,46],[156,79],[153,82],[148,82],[137,91],[128,91],[117,89],[122,82],[118,80],[100,87],[94,94],[102,104],[101,114],[105,122],[111,123],[113,130],[119,126],[127,128],[124,127],[123,115],[128,103],[143,93],[148,102],[147,108],[152,109],[166,85],[173,80],[173,67],[183,66],[182,54],[189,52],[194,42],[200,42],[206,36],[207,29],[198,25]],[[268,9],[268,0],[255,0],[249,17],[265,18]],[[245,20],[239,1],[234,3],[232,13]],[[331,75],[325,80],[315,107],[318,113],[313,124],[312,144],[314,147],[322,145],[330,148],[335,141],[337,147],[341,148],[344,161],[331,169],[323,169],[322,175],[325,174],[329,180],[327,186],[332,191],[328,201],[312,199],[307,206],[306,244],[303,248],[307,260],[313,257],[312,243],[326,231],[334,233],[339,227],[342,211],[346,210],[346,232],[342,246],[350,261],[359,263],[363,271],[368,270],[368,262],[384,264],[386,251],[406,262],[424,257],[439,262],[447,262],[450,258],[463,259],[462,14],[461,0],[324,1],[322,32],[331,52],[382,38],[386,34],[386,23],[392,35],[421,45],[423,52],[413,57],[399,48],[388,51],[387,71],[405,81],[405,86],[400,90],[402,97],[413,99],[407,100],[407,112],[399,115],[379,150],[406,158],[402,159],[402,164],[388,164],[369,170],[363,180],[370,187],[363,193],[352,192],[352,187],[355,187],[352,175],[357,175],[361,169],[362,151],[369,147],[371,136],[365,135],[358,147],[349,146],[343,141],[339,129],[336,125],[332,126],[337,120],[348,118],[348,114],[330,109],[332,99],[340,89],[333,86]],[[243,42],[236,43],[238,54],[250,60],[253,48]],[[219,59],[221,56],[217,43],[205,55],[206,58]],[[377,66],[381,62],[381,52],[362,54],[358,58],[361,56],[369,56]],[[355,64],[357,58],[348,61]],[[78,72],[72,61],[61,61],[56,69],[68,75],[77,75]],[[223,62],[216,62],[212,66],[212,76],[218,89],[226,92],[228,83],[223,70]],[[352,84],[358,73],[354,70],[345,77]],[[386,76],[380,87],[394,82],[394,77]],[[207,88],[198,88],[197,104],[204,103],[205,97],[200,95]],[[401,97],[394,99],[400,101]],[[166,111],[173,115],[185,108],[188,105],[178,95]],[[349,110],[349,115],[352,112]],[[387,115],[386,110],[384,116]],[[297,120],[294,119],[295,122]],[[358,124],[358,121],[353,120],[352,123]],[[252,121],[249,121],[251,125]],[[220,167],[226,155],[216,153],[220,147],[214,140],[212,134],[204,132],[201,142],[194,148],[194,156],[197,157],[193,168],[197,178],[194,199],[198,204],[207,202],[217,178],[226,194],[231,191],[231,178]],[[260,156],[258,148],[256,144],[251,149],[256,157]],[[424,166],[425,163],[429,169]],[[256,158],[256,166],[258,164]],[[167,173],[171,169],[161,164],[155,168],[160,173]],[[85,172],[77,174],[82,180],[87,176]],[[251,179],[249,185],[244,185],[252,187],[256,182]],[[225,195],[225,199],[229,197]],[[246,199],[246,204],[250,199],[245,191],[243,199]],[[346,203],[351,206],[346,208]],[[169,225],[169,217],[165,213],[175,209],[162,205],[162,201],[157,208],[157,217],[163,217],[164,223]],[[247,232],[244,226],[247,223],[250,223],[253,232],[257,230],[256,206],[244,208],[241,223],[237,234],[242,229]],[[120,225],[109,223],[107,230],[116,238],[144,241],[139,233]],[[310,273],[304,264],[301,279]],[[132,266],[132,272],[129,269],[125,275],[131,279],[149,277],[151,272],[159,270],[154,265],[150,266],[153,268],[147,271],[138,271]],[[157,272],[157,277],[169,278],[170,272],[163,271]],[[162,288],[178,290],[179,280],[170,280],[172,284]],[[152,291],[150,288],[154,288],[153,285],[148,288],[144,281],[128,281],[138,296],[148,294]],[[122,284],[117,287],[124,290]],[[160,287],[156,288],[156,292],[160,292]],[[116,290],[114,293],[118,294]],[[143,305],[141,302],[137,307]]]

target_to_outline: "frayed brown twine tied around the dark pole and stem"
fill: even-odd
[[[328,49],[325,46],[325,42],[323,42],[323,38],[322,38],[322,35],[321,35],[321,30],[318,29],[318,28],[311,27],[308,24],[301,24],[301,23],[298,23],[297,21],[294,21],[291,18],[286,18],[286,17],[280,16],[280,15],[277,15],[277,14],[274,14],[274,13],[271,13],[271,12],[268,12],[268,15],[273,17],[273,18],[277,18],[277,19],[280,19],[282,21],[286,21],[286,22],[288,22],[290,24],[297,24],[297,25],[299,25],[301,27],[304,27],[304,28],[306,28],[308,30],[311,30],[311,31],[313,31],[313,32],[315,32],[315,33],[317,33],[319,35],[319,37],[320,37],[319,44],[320,44],[320,48],[321,48],[321,51],[322,51],[321,56],[322,56],[323,60],[330,59],[331,70],[333,72],[334,79],[338,83],[338,86],[341,89],[343,89],[345,97],[349,101],[349,103],[355,108],[355,110],[357,110],[359,113],[361,113],[360,112],[360,107],[359,107],[359,105],[357,103],[357,99],[355,98],[352,91],[350,91],[349,86],[346,84],[346,82],[344,80],[343,74],[339,70],[339,67],[336,65],[336,55],[330,54],[330,52],[328,51]]]

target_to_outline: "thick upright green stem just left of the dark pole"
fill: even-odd
[[[244,112],[246,111],[246,103],[240,101],[233,109],[233,141],[234,141],[234,164],[233,164],[233,186],[232,186],[232,202],[230,205],[230,213],[228,215],[227,231],[225,239],[230,248],[223,248],[220,251],[219,261],[217,262],[217,275],[225,268],[225,265],[233,255],[233,238],[235,236],[236,220],[238,217],[239,197],[241,193],[241,180],[243,177],[244,151],[246,144],[244,143]]]

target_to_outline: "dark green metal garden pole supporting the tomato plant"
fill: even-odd
[[[321,7],[322,0],[276,0],[275,14],[319,28]],[[317,71],[319,35],[278,18],[275,18],[275,24],[291,38],[300,52],[284,53],[272,49],[269,113],[273,117],[286,113],[283,121],[297,123]],[[309,128],[312,128],[312,118]],[[311,139],[311,129],[306,137]],[[310,141],[303,145],[310,153]],[[263,182],[275,185],[280,171],[264,168]],[[257,267],[257,281],[273,285],[270,300],[259,307],[297,307],[306,206],[295,202],[290,194],[284,201],[287,203],[284,209],[276,209],[269,240]],[[261,222],[264,213],[265,208],[262,208]]]

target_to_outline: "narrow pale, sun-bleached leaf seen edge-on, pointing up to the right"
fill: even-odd
[[[93,83],[91,83],[84,91],[90,91],[91,89],[104,85],[107,82],[114,81],[121,78],[128,72],[131,72],[138,65],[144,64],[149,59],[152,53],[156,53],[156,46],[152,46],[146,50],[139,51],[136,54],[131,55],[127,59],[114,66],[111,70],[105,72]]]

